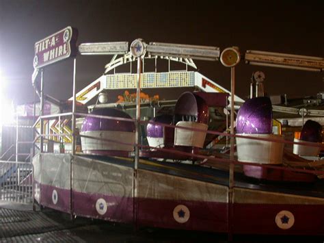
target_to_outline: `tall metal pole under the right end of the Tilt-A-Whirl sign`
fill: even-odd
[[[76,86],[76,76],[77,76],[77,58],[73,60],[73,100],[72,100],[72,145],[71,145],[71,153],[72,158],[70,159],[70,218],[74,220],[74,208],[73,208],[73,161],[75,159],[75,86]]]

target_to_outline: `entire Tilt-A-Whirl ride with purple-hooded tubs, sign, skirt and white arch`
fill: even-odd
[[[40,71],[41,107],[42,68],[56,58],[76,55],[75,36],[75,29],[67,27],[36,42],[33,84],[37,87]],[[237,47],[221,52],[217,47],[146,44],[141,39],[131,43],[130,52],[128,42],[85,43],[79,45],[78,51],[81,55],[113,55],[113,58],[105,66],[105,74],[78,93],[75,58],[73,96],[69,99],[72,112],[44,116],[40,109],[40,151],[33,157],[35,199],[40,205],[68,212],[71,218],[86,216],[134,223],[137,227],[227,232],[230,238],[235,233],[323,235],[324,216],[318,212],[324,209],[324,187],[317,176],[321,178],[324,172],[314,170],[310,167],[313,162],[299,156],[310,148],[316,148],[313,155],[323,149],[321,126],[305,124],[294,155],[283,146],[283,142],[293,142],[272,134],[271,101],[267,97],[243,101],[234,95],[234,68],[240,60],[262,66],[323,71],[323,58],[263,51],[246,51],[241,55]],[[145,58],[181,62],[186,71],[143,73]],[[188,66],[196,68],[195,59],[220,59],[230,68],[230,91],[198,72],[187,71]],[[136,74],[109,74],[116,67],[136,60]],[[258,73],[255,79],[260,83],[262,77]],[[150,106],[141,104],[141,88],[169,87],[196,87],[201,92],[182,94],[172,104],[174,110],[169,114],[159,115],[154,110],[149,122],[141,119],[141,107]],[[91,114],[76,112],[77,102],[85,105],[103,90],[131,88],[137,89],[135,120],[126,113],[131,104],[124,105],[123,110],[114,108],[117,105],[100,104],[98,109],[92,106]],[[100,96],[101,101],[106,98]],[[163,106],[163,102],[159,105]],[[230,133],[207,130],[210,105],[230,107]],[[235,108],[239,108],[237,134]],[[44,146],[44,138],[49,137],[44,134],[44,120],[55,120],[57,116],[71,117],[71,153],[48,153]],[[85,116],[80,132],[83,153],[75,151],[77,116]],[[141,142],[145,128],[148,145]],[[213,138],[230,137],[229,156],[208,151],[206,138],[210,133]],[[287,158],[299,167],[283,166]],[[267,183],[259,184],[247,177],[265,179]],[[281,183],[274,186],[271,181]],[[306,186],[288,186],[286,181],[303,182]]]

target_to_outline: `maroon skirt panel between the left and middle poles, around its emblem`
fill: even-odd
[[[108,205],[107,212],[103,215],[98,214],[96,211],[96,201],[98,199],[105,199]],[[73,192],[73,202],[75,214],[79,216],[115,222],[133,222],[133,198]]]

